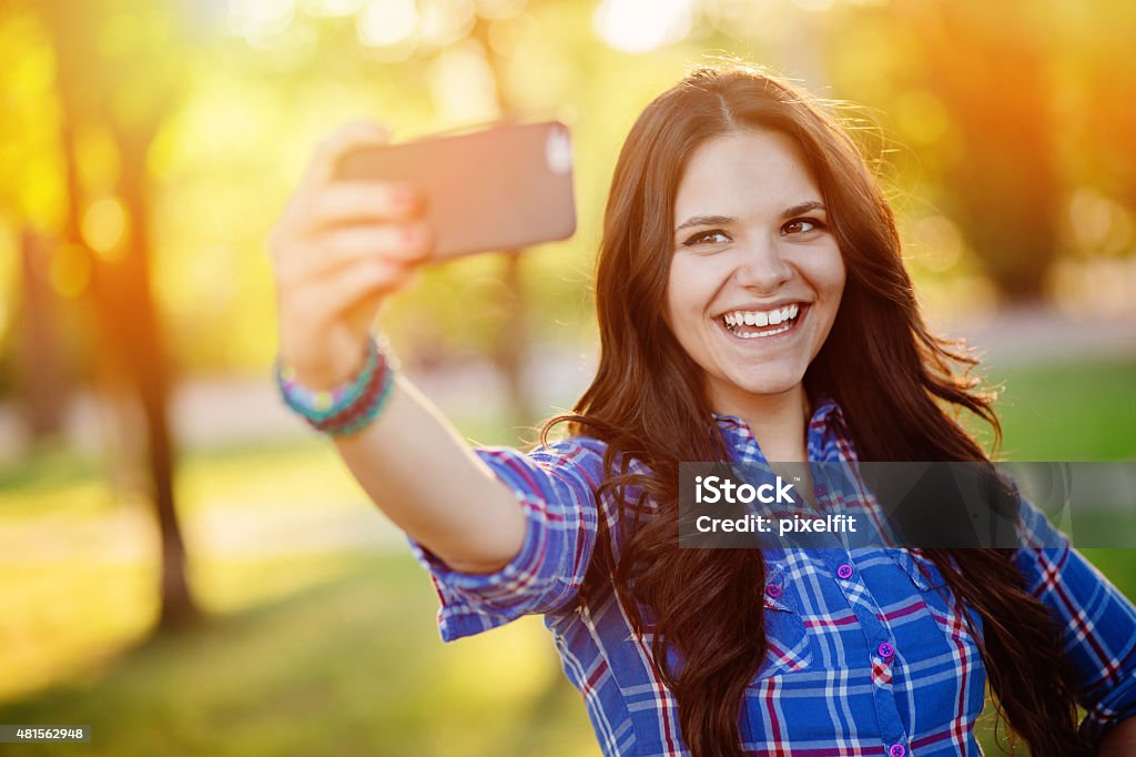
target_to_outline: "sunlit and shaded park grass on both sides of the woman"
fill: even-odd
[[[991,378],[1006,382],[999,409],[1011,459],[1136,458],[1136,363]],[[490,429],[467,424],[466,433],[509,441]],[[178,493],[189,519],[365,507],[318,440],[191,450]],[[152,533],[133,557],[109,558],[103,532],[76,535],[132,507],[141,506],[117,501],[97,461],[56,454],[0,472],[0,723],[94,727],[92,744],[6,744],[3,754],[596,754],[540,621],[443,650],[436,599],[404,551],[234,558],[194,549],[210,622],[150,638]],[[20,535],[27,524],[47,530]],[[1136,554],[1086,556],[1136,597]]]

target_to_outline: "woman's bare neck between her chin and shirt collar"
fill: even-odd
[[[809,396],[804,384],[779,394],[732,394],[711,398],[716,413],[740,417],[770,463],[808,460],[805,427]]]

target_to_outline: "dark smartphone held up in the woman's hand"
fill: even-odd
[[[560,122],[503,124],[344,156],[345,180],[398,180],[426,200],[433,259],[519,250],[576,231],[573,152]]]

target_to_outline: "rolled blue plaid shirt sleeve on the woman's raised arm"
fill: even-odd
[[[595,543],[601,451],[565,440],[527,455],[507,447],[475,452],[516,496],[525,514],[525,538],[516,557],[495,573],[466,573],[408,536],[441,600],[437,623],[444,641],[569,606]]]

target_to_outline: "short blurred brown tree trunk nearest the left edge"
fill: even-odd
[[[48,281],[49,248],[32,228],[20,234],[22,292],[16,350],[17,397],[28,442],[36,447],[64,430],[67,381],[59,353],[56,294]]]

